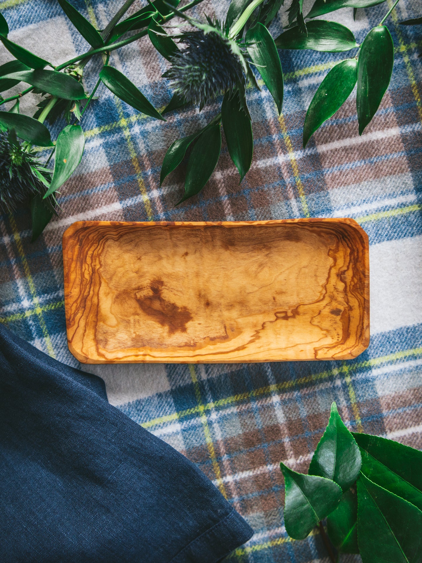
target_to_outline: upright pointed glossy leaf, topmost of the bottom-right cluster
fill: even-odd
[[[327,428],[309,465],[309,475],[331,479],[345,491],[356,481],[360,468],[359,448],[333,403]]]

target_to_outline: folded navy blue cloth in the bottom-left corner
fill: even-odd
[[[0,324],[0,561],[218,561],[252,529],[102,379]]]

